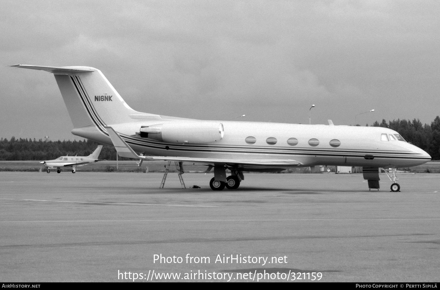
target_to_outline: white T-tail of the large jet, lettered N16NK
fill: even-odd
[[[108,143],[110,139],[105,126],[138,121],[133,119],[139,118],[149,119],[148,116],[160,119],[158,115],[130,108],[99,69],[88,66],[11,66],[54,74],[75,128],[72,130],[75,135],[97,140],[96,135],[100,133],[104,137],[102,141]]]

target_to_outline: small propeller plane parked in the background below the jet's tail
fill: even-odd
[[[101,153],[101,149],[103,149],[103,145],[99,145],[95,149],[95,151],[93,151],[93,153],[89,156],[61,156],[57,159],[41,161],[40,163],[48,168],[47,173],[50,173],[51,169],[55,167],[57,169],[57,173],[61,172],[61,167],[72,167],[72,173],[75,173],[76,168],[79,166],[84,166],[88,163],[103,161],[98,159],[99,153]]]

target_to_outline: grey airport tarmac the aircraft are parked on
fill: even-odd
[[[0,280],[440,281],[439,174],[398,174],[401,192],[385,174],[380,191],[362,174],[245,174],[221,192],[213,174],[162,175],[0,172]]]

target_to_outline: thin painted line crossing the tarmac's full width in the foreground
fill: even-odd
[[[440,221],[440,218],[296,219],[296,220],[90,220],[90,221],[0,221],[6,222],[135,222],[135,221]]]

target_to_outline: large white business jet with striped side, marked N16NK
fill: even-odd
[[[51,72],[75,129],[72,133],[108,145],[119,156],[200,163],[214,168],[213,190],[238,188],[243,171],[276,172],[292,167],[363,167],[369,188],[379,189],[379,167],[396,168],[431,160],[396,131],[383,127],[205,121],[137,112],[99,69],[86,66],[11,65]],[[136,153],[138,152],[138,153]],[[226,169],[231,175],[226,176]]]

